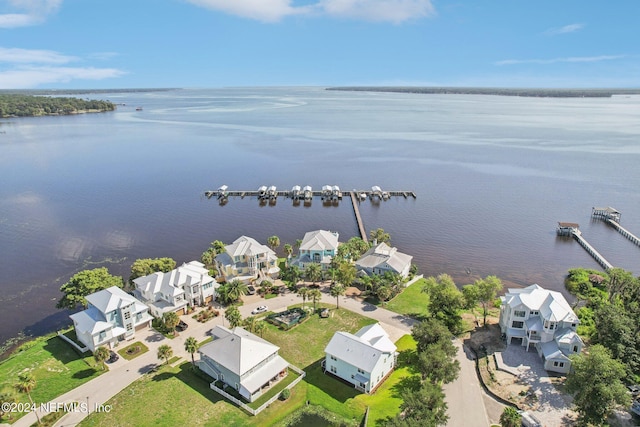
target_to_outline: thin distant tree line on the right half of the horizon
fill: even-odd
[[[640,89],[538,89],[490,87],[409,87],[409,86],[344,86],[326,90],[417,93],[427,95],[498,95],[537,98],[611,98],[613,95],[640,95]]]

